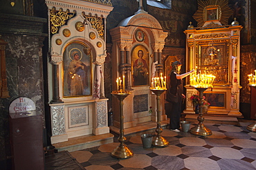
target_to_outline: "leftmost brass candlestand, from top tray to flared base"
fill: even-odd
[[[111,94],[113,96],[115,96],[116,98],[118,98],[118,100],[120,101],[120,136],[118,138],[118,141],[120,142],[120,145],[118,147],[116,147],[116,149],[114,149],[111,152],[111,156],[113,156],[115,158],[121,158],[121,159],[130,158],[131,156],[134,155],[134,153],[124,143],[126,138],[124,136],[125,130],[124,130],[124,113],[123,113],[123,107],[124,107],[123,100],[130,93],[111,93]]]

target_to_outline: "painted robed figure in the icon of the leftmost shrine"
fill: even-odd
[[[80,61],[80,55],[77,50],[74,50],[71,56],[73,60],[68,66],[68,91],[70,95],[86,95],[88,67]]]

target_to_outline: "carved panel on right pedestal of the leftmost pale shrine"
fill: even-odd
[[[107,102],[97,102],[97,127],[107,126]]]

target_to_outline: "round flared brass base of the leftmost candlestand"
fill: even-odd
[[[120,144],[111,152],[111,156],[119,159],[130,158],[134,153],[125,144]]]

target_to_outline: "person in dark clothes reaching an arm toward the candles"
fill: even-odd
[[[165,104],[165,113],[170,118],[170,130],[179,132],[180,118],[181,118],[181,104],[185,95],[183,94],[183,78],[191,75],[196,70],[191,70],[188,73],[180,75],[181,62],[176,61],[172,63],[172,71],[170,73],[170,86],[167,89]],[[168,111],[169,110],[169,111]]]

